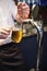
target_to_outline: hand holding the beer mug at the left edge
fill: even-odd
[[[0,28],[0,39],[4,39],[10,35],[12,27]]]

